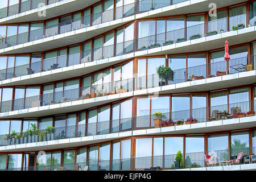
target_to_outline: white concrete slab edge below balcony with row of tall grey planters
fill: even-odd
[[[250,119],[248,119],[250,118]],[[232,123],[232,121],[237,120],[238,122]],[[215,125],[208,125],[208,123],[215,123]],[[229,126],[225,123],[229,123]],[[200,124],[200,125],[198,125]],[[202,125],[201,125],[202,124]],[[162,128],[152,128],[152,129],[140,129],[133,131],[124,131],[119,133],[109,133],[102,135],[92,135],[87,137],[77,137],[77,138],[67,138],[59,140],[50,140],[46,142],[34,142],[26,144],[14,144],[9,146],[1,146],[0,152],[20,152],[20,151],[39,151],[57,148],[68,148],[84,146],[87,144],[105,142],[109,140],[114,140],[118,138],[131,137],[131,136],[142,136],[142,135],[170,135],[170,134],[197,134],[197,133],[210,133],[215,131],[225,131],[225,130],[238,130],[254,127],[256,125],[256,116],[236,118],[236,119],[224,119],[221,122],[212,121],[203,123],[195,123],[190,125],[180,125],[180,126],[170,126]],[[252,164],[251,164],[252,165]],[[256,164],[254,164],[256,165]],[[255,167],[253,165],[253,167]],[[213,170],[222,170],[223,166],[217,166],[211,168]],[[242,167],[241,169],[248,170],[252,166]],[[238,167],[226,166],[223,170],[238,169]],[[240,169],[240,168],[239,168]],[[238,169],[238,170],[239,170]],[[192,169],[193,170],[193,169]],[[195,169],[196,170],[196,169]],[[197,169],[198,170],[198,169]],[[200,169],[199,169],[200,170]]]

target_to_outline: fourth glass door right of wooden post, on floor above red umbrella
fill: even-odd
[[[187,16],[187,40],[204,36],[204,15]]]

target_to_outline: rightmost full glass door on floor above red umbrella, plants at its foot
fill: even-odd
[[[229,9],[229,31],[246,26],[246,5]]]

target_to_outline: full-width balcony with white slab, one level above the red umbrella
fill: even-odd
[[[239,15],[239,16],[244,16],[244,15]],[[229,17],[230,19],[231,17]],[[251,20],[253,21],[253,20]],[[238,23],[241,24],[240,21]],[[13,67],[13,68],[7,68],[7,69],[2,69],[0,70],[0,80],[6,80],[6,83],[9,84],[10,80],[16,80],[20,81],[21,76],[28,76],[29,78],[34,78],[37,79],[35,76],[41,76],[45,75],[51,75],[52,72],[63,72],[65,70],[68,70],[71,72],[71,69],[69,68],[81,68],[81,66],[85,65],[93,65],[98,64],[103,62],[104,60],[108,58],[121,58],[120,56],[124,56],[123,60],[126,60],[129,58],[130,54],[133,52],[136,52],[137,56],[141,56],[146,54],[152,54],[154,53],[154,50],[157,50],[159,54],[159,48],[162,53],[168,53],[168,50],[171,48],[174,48],[174,43],[179,43],[179,42],[184,42],[180,44],[184,44],[185,46],[187,45],[185,41],[191,40],[191,42],[197,42],[197,40],[201,40],[201,38],[204,36],[205,38],[210,38],[211,37],[216,37],[219,38],[217,34],[224,35],[225,33],[222,33],[222,27],[220,26],[223,24],[223,26],[226,26],[226,19],[220,19],[220,20],[214,20],[213,22],[208,22],[206,24],[199,24],[197,26],[193,27],[187,27],[187,29],[183,28],[180,30],[175,30],[175,31],[170,31],[162,34],[157,34],[154,36],[148,36],[140,39],[135,39],[135,40],[130,40],[127,42],[123,43],[118,43],[118,44],[113,44],[110,46],[105,46],[105,47],[100,47],[96,49],[90,49],[88,51],[83,51],[71,55],[64,55],[64,56],[59,56],[59,57],[53,57],[51,59],[44,59],[43,61],[38,61],[36,63],[31,63],[31,64],[24,64],[20,65],[19,67]],[[234,24],[234,23],[232,23]],[[199,32],[199,30],[204,30],[205,26],[211,26],[211,27],[216,27],[216,31],[211,31],[208,32],[207,34],[204,34],[204,32],[201,32],[201,35],[196,34],[196,32]],[[214,25],[214,26],[213,26]],[[232,28],[235,26],[232,26]],[[241,28],[245,28],[241,26]],[[255,26],[248,27],[250,30],[253,28],[253,31],[255,29]],[[213,28],[211,28],[213,30]],[[242,30],[240,30],[242,31]],[[185,33],[187,32],[187,33]],[[228,33],[228,31],[226,30]],[[230,31],[230,34],[235,31]],[[247,30],[246,30],[247,32]],[[192,35],[196,34],[196,36],[185,36],[185,35]],[[181,36],[185,38],[181,38]],[[242,35],[241,35],[242,36]],[[248,39],[250,36],[248,36]],[[226,38],[225,38],[226,39]],[[237,39],[236,39],[237,40]],[[244,40],[244,39],[241,39]],[[172,45],[173,44],[173,45]],[[216,45],[219,45],[219,42],[216,42]],[[212,42],[212,45],[214,46],[215,43]],[[209,47],[212,45],[208,45]],[[166,47],[168,49],[166,49]],[[198,48],[198,47],[197,47]],[[163,50],[162,50],[163,49]],[[205,47],[204,47],[205,49]],[[183,50],[184,51],[184,50]],[[138,52],[138,53],[137,53]],[[125,57],[128,56],[126,59]],[[133,55],[134,56],[134,55]],[[130,56],[130,57],[133,57]],[[116,61],[116,59],[114,59]],[[120,59],[118,59],[120,61]],[[108,64],[114,64],[114,61],[112,63]],[[95,66],[94,66],[95,67]],[[97,65],[97,67],[100,67],[100,64]],[[98,68],[91,68],[91,71],[97,70]],[[67,69],[64,69],[67,68]],[[80,71],[75,71],[76,76],[78,73],[87,73],[85,70],[80,69]],[[39,74],[40,73],[40,74]],[[50,73],[50,74],[49,74]],[[59,73],[60,74],[60,73]],[[83,74],[83,75],[84,75]],[[63,75],[64,76],[64,75]],[[18,77],[18,78],[17,78]],[[26,78],[28,78],[26,77]],[[62,76],[60,76],[62,77]],[[67,77],[67,74],[65,74],[64,77]],[[9,79],[9,81],[7,81]],[[47,78],[48,79],[48,78]],[[52,78],[49,78],[50,80]],[[25,80],[22,80],[25,81]],[[31,80],[32,81],[32,80]],[[52,80],[53,81],[53,80]],[[25,81],[26,82],[26,81]],[[37,79],[36,83],[42,82],[42,79],[40,78],[40,81]],[[4,84],[5,82],[2,82]]]

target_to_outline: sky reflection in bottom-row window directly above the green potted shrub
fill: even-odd
[[[179,150],[183,154],[183,137],[164,138],[164,155],[177,154]]]

